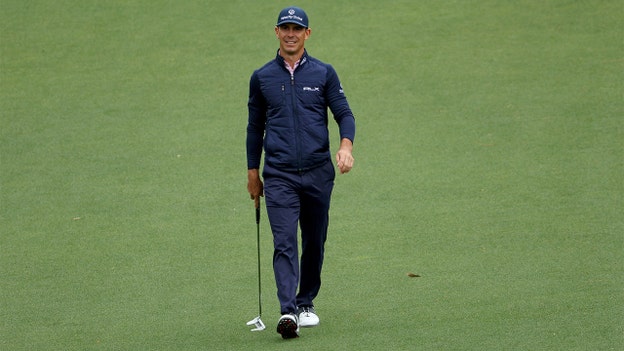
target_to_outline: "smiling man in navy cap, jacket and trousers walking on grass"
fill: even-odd
[[[340,131],[337,167],[341,173],[353,167],[355,118],[333,67],[308,55],[305,41],[310,34],[302,9],[283,9],[275,26],[277,56],[256,70],[249,83],[247,190],[256,207],[266,195],[282,314],[277,332],[284,339],[298,337],[300,326],[319,324],[313,301],[321,287],[335,178],[328,108]],[[263,146],[264,183],[259,174]]]

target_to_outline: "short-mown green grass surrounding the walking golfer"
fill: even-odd
[[[286,5],[0,4],[0,349],[624,348],[624,6],[598,0],[301,4],[356,168],[321,327],[274,332],[263,216],[248,331],[248,79]]]

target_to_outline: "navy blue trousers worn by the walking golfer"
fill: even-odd
[[[277,297],[282,314],[294,313],[297,306],[312,306],[321,288],[329,203],[336,173],[328,160],[305,172],[284,172],[265,165],[262,176],[273,232]]]

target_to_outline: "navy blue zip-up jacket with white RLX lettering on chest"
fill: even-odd
[[[340,138],[355,138],[355,118],[334,68],[304,52],[291,76],[279,55],[256,70],[249,82],[247,168],[266,164],[304,171],[331,160],[328,111]]]

